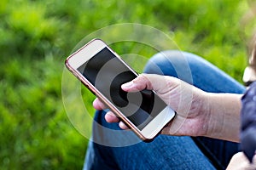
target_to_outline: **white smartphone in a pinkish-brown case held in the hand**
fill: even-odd
[[[113,49],[101,39],[93,39],[71,54],[67,69],[101,99],[121,121],[143,140],[154,139],[175,116],[152,90],[127,93],[121,85],[138,76]]]

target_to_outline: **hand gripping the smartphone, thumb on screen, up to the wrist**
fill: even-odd
[[[121,87],[126,92],[136,92],[145,88],[154,90],[167,105],[170,105],[177,116],[161,133],[172,135],[199,136],[207,133],[207,117],[209,111],[204,111],[205,92],[195,88],[175,77],[142,74]],[[105,109],[99,99],[93,103],[96,110]],[[204,113],[204,114],[201,114]],[[108,111],[105,116],[107,122],[119,122],[119,118]],[[127,128],[125,123],[119,122],[119,127]]]

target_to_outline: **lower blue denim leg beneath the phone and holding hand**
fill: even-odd
[[[117,123],[106,122],[104,114],[104,111],[97,111],[96,122],[103,127],[124,131],[119,129]],[[109,145],[112,142],[123,144],[135,136],[130,132],[119,138],[116,132],[108,136],[109,132],[106,134],[102,131],[104,129],[94,126],[94,134],[101,134],[99,138],[104,144]],[[99,142],[98,139],[95,140]],[[90,141],[84,169],[214,169],[211,162],[189,137],[159,135],[151,143],[139,142],[123,147],[109,147],[104,144]]]

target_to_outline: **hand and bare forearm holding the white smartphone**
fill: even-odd
[[[195,88],[175,77],[142,74],[121,87],[126,92],[145,88],[154,90],[177,116],[161,131],[178,136],[207,136],[215,139],[239,141],[241,94],[211,94]],[[93,106],[106,109],[99,99]],[[105,116],[107,122],[119,122],[113,112]],[[125,123],[119,127],[127,129]]]

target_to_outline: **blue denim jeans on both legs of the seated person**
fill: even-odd
[[[216,66],[185,52],[156,54],[149,59],[144,71],[178,77],[212,93],[242,94],[245,91],[241,84]],[[119,129],[117,123],[106,122],[104,115],[104,111],[96,111],[95,121],[103,127]],[[151,143],[137,139],[135,144],[122,146],[127,140],[136,138],[132,132],[125,135],[104,133],[102,127],[94,124],[84,169],[224,169],[231,156],[238,152],[238,144],[224,140],[168,135],[159,135]],[[118,147],[111,145],[113,143]]]

